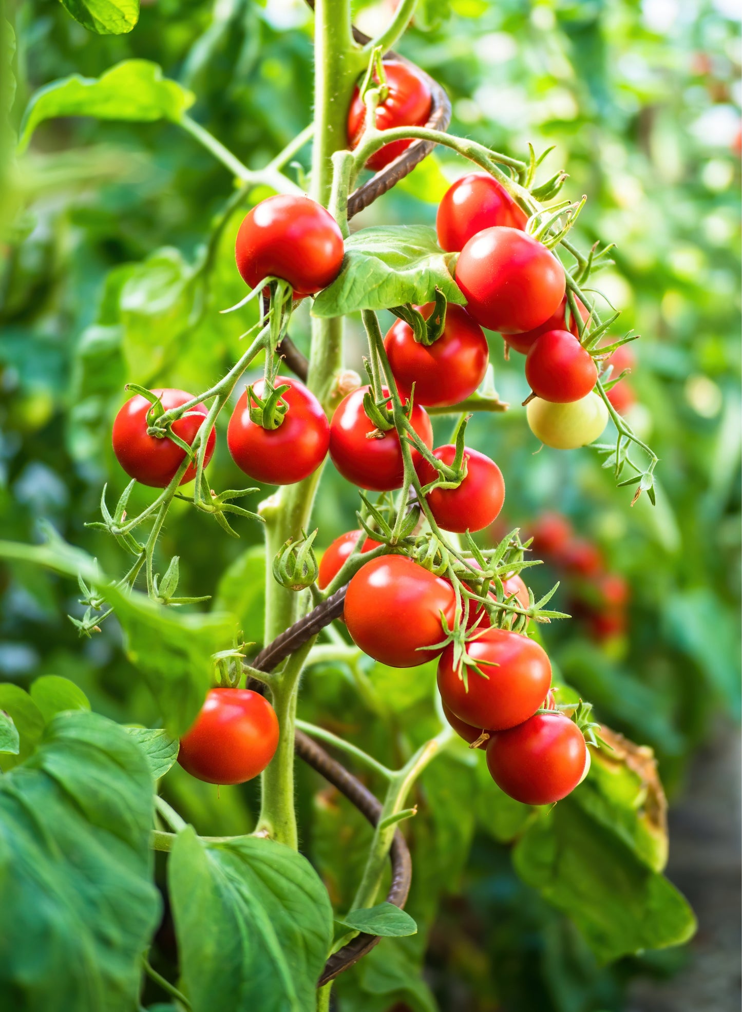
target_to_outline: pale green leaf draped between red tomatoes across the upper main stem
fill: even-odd
[[[435,230],[426,225],[362,229],[345,241],[342,270],[319,293],[312,316],[421,305],[432,302],[436,287],[449,302],[463,306],[466,299],[450,273],[456,256],[443,253]]]

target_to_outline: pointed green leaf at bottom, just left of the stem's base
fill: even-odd
[[[189,827],[173,844],[168,882],[194,1012],[314,1009],[332,909],[305,857],[257,837],[205,845]]]

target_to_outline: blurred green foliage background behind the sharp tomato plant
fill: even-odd
[[[440,805],[452,806],[454,818],[419,831],[435,836],[437,847],[429,856],[437,864],[425,872],[427,983],[405,984],[388,953],[366,977],[384,971],[394,984],[397,974],[399,986],[375,991],[373,982],[350,980],[339,987],[342,1009],[428,1010],[433,995],[441,1009],[476,1012],[736,1005],[738,921],[725,904],[736,904],[738,889],[728,850],[738,820],[730,778],[736,782],[740,710],[737,8],[733,0],[426,0],[401,46],[445,86],[451,131],[517,156],[528,142],[537,151],[555,146],[544,177],[565,168],[566,195],[588,195],[580,244],[616,244],[614,266],[594,284],[603,306],[622,310],[621,333],[633,329],[642,338],[625,383],[636,398],[629,418],[661,458],[656,508],[646,497],[630,508],[632,490],[614,487],[594,451],[534,453],[519,407],[527,393],[522,359],[506,361],[495,335],[497,390],[513,407],[475,418],[470,432],[505,475],[509,527],[529,534],[545,510],[559,511],[598,549],[602,570],[629,581],[626,614],[602,624],[597,591],[574,567],[548,565],[531,582],[546,591],[561,580],[555,604],[576,615],[545,634],[563,677],[594,702],[600,720],[659,758],[676,833],[670,876],[695,904],[702,930],[689,947],[600,965],[569,918],[515,876],[503,835],[483,828],[466,798],[446,798],[444,767],[431,767],[423,794],[435,809],[433,795],[442,792]],[[190,87],[194,117],[251,167],[310,120],[311,16],[299,0],[151,0],[123,36],[92,36],[61,5],[27,2],[11,16],[16,129],[36,88],[71,73],[98,76],[132,57],[156,61]],[[388,16],[387,5],[364,6],[356,22],[373,31]],[[301,173],[306,151],[299,162]],[[123,557],[85,523],[96,519],[104,483],[111,501],[125,485],[109,446],[123,384],[202,390],[239,348],[239,326],[217,313],[243,290],[230,253],[239,216],[225,232],[202,302],[194,271],[231,179],[164,122],[54,120],[37,131],[21,168],[0,193],[0,525],[4,537],[28,541],[37,539],[38,520],[49,519],[119,573]],[[432,223],[447,181],[463,170],[445,154],[428,159],[353,228]],[[251,199],[263,195],[254,191]],[[306,347],[301,313],[293,335]],[[348,362],[356,368],[360,347],[359,325],[349,321]],[[441,436],[449,424],[440,424]],[[239,487],[224,438],[211,473],[215,487]],[[147,493],[136,495],[148,501]],[[317,543],[354,525],[356,506],[353,490],[328,469]],[[259,642],[260,531],[249,521],[236,526],[241,539],[232,541],[176,503],[163,558],[180,556],[184,593],[212,594],[217,605],[229,599],[233,607],[237,599],[247,638]],[[80,641],[66,617],[82,611],[69,582],[21,565],[4,568],[0,580],[0,678],[26,685],[38,674],[66,675],[103,713],[155,719],[114,620]],[[420,701],[414,686],[361,682],[363,708],[351,681],[341,668],[319,669],[305,715],[365,734],[373,746],[372,712],[379,747],[388,748],[389,729],[404,725]],[[307,777],[304,838],[342,896],[357,870],[352,844],[364,831],[336,795],[316,787]],[[218,800],[208,785],[173,770],[166,790],[204,832],[250,828],[250,789],[223,790]],[[424,854],[425,840],[416,842]],[[682,857],[675,872],[674,846]],[[717,936],[719,924],[729,924],[731,938]],[[416,944],[422,959],[424,943]],[[162,950],[166,960],[166,940]],[[667,996],[672,1004],[664,1004]]]

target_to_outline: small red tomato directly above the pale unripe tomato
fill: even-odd
[[[543,401],[571,404],[587,397],[593,389],[597,366],[590,352],[569,331],[548,330],[530,346],[525,378]]]

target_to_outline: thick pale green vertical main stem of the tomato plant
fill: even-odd
[[[312,196],[328,206],[332,191],[332,155],[345,148],[348,105],[363,58],[350,28],[349,0],[317,0],[315,8],[315,117],[312,157]],[[308,386],[327,405],[342,366],[342,320],[313,320]],[[309,527],[320,471],[299,485],[286,486],[267,499],[261,514],[266,521],[265,642],[270,643],[301,617],[309,604],[275,582],[272,561],[290,537]],[[278,748],[262,775],[262,805],[258,829],[273,839],[298,847],[294,809],[294,737],[297,695],[302,666],[311,643],[290,658],[271,685],[280,724]]]

